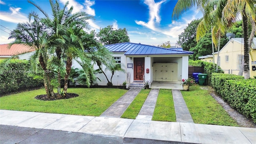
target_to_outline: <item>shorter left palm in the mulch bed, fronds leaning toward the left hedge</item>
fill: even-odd
[[[30,62],[35,73],[41,74],[44,79],[44,87],[47,98],[54,97],[54,91],[51,84],[52,72],[50,69],[52,48],[47,46],[48,34],[45,25],[40,21],[38,15],[34,12],[30,15],[36,16],[33,22],[18,23],[17,27],[10,33],[10,38],[15,38],[12,44],[24,44],[35,49]]]

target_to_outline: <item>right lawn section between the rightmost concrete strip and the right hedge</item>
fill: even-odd
[[[188,110],[195,123],[221,126],[239,126],[218,102],[199,86],[190,86],[189,91],[181,91]]]

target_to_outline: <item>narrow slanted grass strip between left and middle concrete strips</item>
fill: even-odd
[[[143,106],[146,98],[148,97],[148,94],[150,92],[150,89],[142,89],[140,90],[140,93],[134,98],[130,106],[126,109],[124,114],[121,116],[121,118],[130,118],[135,119],[136,116],[138,116],[141,107]]]

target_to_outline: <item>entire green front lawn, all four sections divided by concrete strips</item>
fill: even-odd
[[[238,126],[220,104],[212,98],[208,90],[198,85],[190,86],[190,91],[181,91],[188,110],[195,123]],[[31,90],[0,97],[0,109],[83,116],[100,116],[127,90],[116,88],[68,88],[69,93],[78,97],[43,101],[34,97],[45,94],[44,89]],[[141,90],[122,115],[122,118],[135,119],[150,90]],[[160,89],[152,120],[176,122],[172,90]]]

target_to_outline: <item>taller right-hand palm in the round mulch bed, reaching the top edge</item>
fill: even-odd
[[[88,22],[86,20],[90,19],[91,16],[88,16],[85,12],[76,12],[72,14],[73,6],[70,9],[67,9],[68,2],[64,5],[63,8],[60,8],[58,1],[54,3],[52,0],[50,5],[52,8],[53,18],[50,18],[40,6],[30,2],[36,8],[38,8],[45,16],[42,21],[48,26],[48,29],[51,31],[50,43],[49,46],[55,48],[56,62],[59,64],[58,67],[58,97],[66,96],[68,88],[68,77],[72,67],[72,60],[74,57],[78,56],[78,52],[83,52],[83,44],[80,38],[82,37],[82,30],[88,29]],[[80,54],[82,56],[82,54]],[[61,72],[60,69],[62,65],[62,57],[66,58],[66,73],[64,76],[64,88],[62,94],[60,92],[60,80]]]

